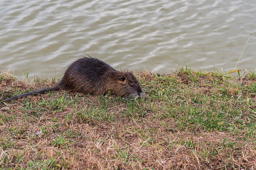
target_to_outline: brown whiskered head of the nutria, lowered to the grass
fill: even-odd
[[[141,98],[142,90],[138,80],[132,74],[132,71],[111,72],[110,74],[112,74],[113,78],[112,82],[108,82],[111,94],[127,98]]]

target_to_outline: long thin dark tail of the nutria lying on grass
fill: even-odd
[[[3,102],[9,102],[11,100],[20,99],[22,97],[26,97],[26,96],[29,96],[29,95],[42,94],[44,92],[56,91],[56,90],[60,90],[60,86],[57,85],[57,86],[53,86],[53,87],[44,87],[44,88],[41,88],[41,89],[36,89],[36,90],[30,91],[28,93],[24,93],[24,94],[20,94],[20,95],[17,95],[17,96],[13,96],[13,97],[4,99],[1,102],[2,103]]]

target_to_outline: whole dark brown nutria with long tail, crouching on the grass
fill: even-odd
[[[28,93],[4,99],[1,102],[8,102],[29,95],[60,89],[73,90],[85,95],[106,94],[110,91],[113,95],[127,98],[140,99],[142,96],[139,82],[132,74],[132,71],[117,71],[99,59],[92,58],[91,56],[83,56],[83,58],[76,60],[68,67],[58,85],[36,89]]]

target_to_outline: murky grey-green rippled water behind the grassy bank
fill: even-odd
[[[61,78],[87,53],[116,69],[255,69],[255,0],[1,0],[0,64]]]

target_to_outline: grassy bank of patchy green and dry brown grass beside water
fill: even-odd
[[[256,74],[139,72],[127,101],[59,91],[0,105],[0,169],[256,168]],[[55,80],[0,79],[1,100]]]

